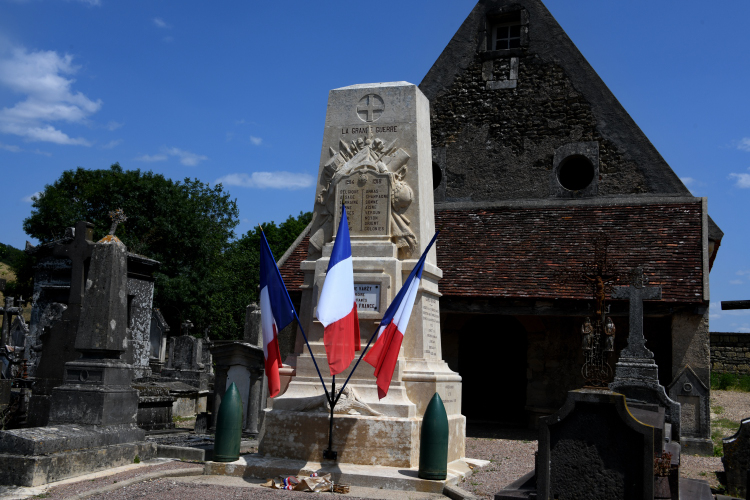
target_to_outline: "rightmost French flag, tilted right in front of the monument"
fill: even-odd
[[[378,399],[383,399],[391,386],[393,371],[396,369],[396,361],[398,361],[398,351],[401,349],[404,333],[409,326],[411,311],[414,309],[414,301],[417,299],[419,284],[422,281],[425,259],[438,234],[439,232],[436,232],[435,236],[432,237],[432,241],[427,245],[417,265],[414,266],[398,295],[391,302],[380,322],[378,338],[375,340],[372,349],[364,357],[364,360],[375,368]]]

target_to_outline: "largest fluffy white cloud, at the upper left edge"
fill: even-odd
[[[2,51],[0,85],[26,98],[0,110],[0,132],[29,141],[90,146],[85,138],[70,137],[51,125],[59,121],[83,123],[102,106],[101,100],[92,101],[72,90],[75,80],[67,76],[77,71],[69,54],[29,52],[22,47]]]

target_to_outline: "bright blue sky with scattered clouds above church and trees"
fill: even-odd
[[[81,166],[223,180],[238,233],[311,210],[328,91],[418,84],[473,0],[0,0],[0,241]],[[726,236],[711,330],[750,332],[750,2],[547,7]]]

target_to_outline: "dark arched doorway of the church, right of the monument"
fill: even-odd
[[[512,316],[478,314],[459,335],[461,413],[471,423],[526,423],[526,330]]]

